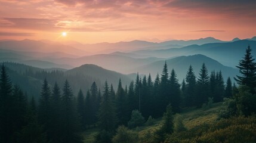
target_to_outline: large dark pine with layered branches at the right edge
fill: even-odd
[[[251,88],[251,92],[254,93],[254,88],[256,86],[256,63],[251,54],[252,49],[250,46],[246,49],[245,56],[239,61],[239,72],[241,76],[236,76],[235,80],[239,85],[246,85]]]

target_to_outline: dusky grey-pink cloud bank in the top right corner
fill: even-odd
[[[178,12],[202,15],[217,14],[226,17],[238,17],[240,15],[255,16],[255,0],[174,0],[163,5],[166,8],[173,8]]]

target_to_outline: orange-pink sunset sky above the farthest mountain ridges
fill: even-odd
[[[253,36],[255,0],[0,0],[0,40],[230,41]]]

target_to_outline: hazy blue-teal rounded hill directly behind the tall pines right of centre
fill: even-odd
[[[162,69],[164,67],[164,63],[165,61],[163,60],[147,64],[146,66],[140,67],[138,69],[138,72],[143,74],[151,73],[153,76],[155,76],[156,73],[161,74]],[[180,80],[180,82],[183,80],[183,78],[186,77],[186,73],[190,65],[192,65],[196,76],[198,76],[198,73],[203,63],[206,64],[209,74],[212,70],[221,70],[225,80],[227,79],[228,76],[232,77],[233,79],[233,77],[239,74],[238,69],[223,66],[223,64],[219,63],[218,61],[201,54],[171,58],[169,60],[166,60],[166,63],[168,66],[169,73],[171,72],[172,69],[174,69],[177,73],[177,77]]]

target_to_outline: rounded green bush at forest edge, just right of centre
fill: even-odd
[[[141,113],[138,110],[133,110],[131,113],[131,120],[128,122],[128,128],[135,128],[137,126],[143,125],[145,122],[144,117],[141,115]]]

